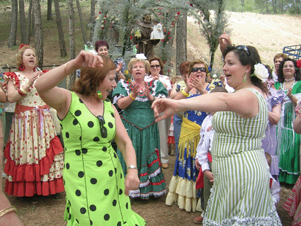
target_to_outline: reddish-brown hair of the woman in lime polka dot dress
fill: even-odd
[[[72,91],[84,96],[97,97],[99,84],[105,79],[108,72],[116,69],[116,64],[109,57],[101,55],[103,67],[81,69],[79,79],[75,81]]]

